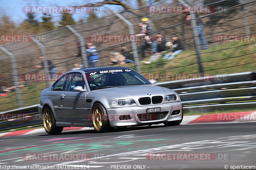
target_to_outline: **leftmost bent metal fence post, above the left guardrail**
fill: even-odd
[[[18,77],[18,74],[17,74],[17,64],[16,64],[16,61],[15,61],[15,56],[11,51],[9,51],[8,49],[6,49],[3,46],[0,46],[0,49],[2,49],[11,58],[12,76],[13,76],[14,86],[16,86],[16,90],[15,90],[15,92],[16,92],[16,101],[17,101],[18,108],[20,108],[20,107],[22,107],[22,102],[21,102],[21,95],[20,95],[20,87],[18,87],[19,86],[18,85],[19,77]]]

